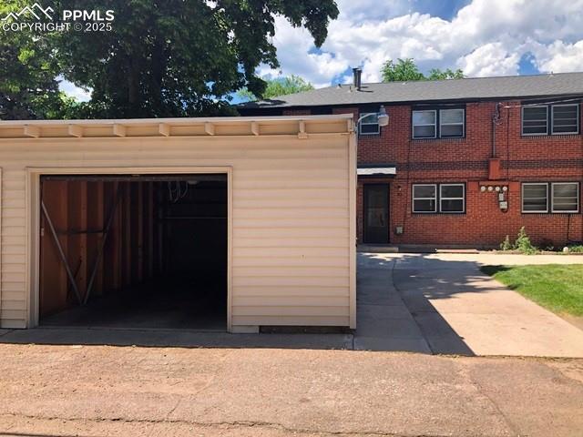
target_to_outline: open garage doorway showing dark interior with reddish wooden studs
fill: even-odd
[[[41,325],[227,329],[223,174],[42,176]]]

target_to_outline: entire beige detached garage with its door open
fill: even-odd
[[[0,122],[0,326],[355,328],[350,115]]]

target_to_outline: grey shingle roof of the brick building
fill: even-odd
[[[318,107],[572,95],[583,95],[583,72],[363,84],[360,90],[356,90],[352,84],[338,85],[249,102],[239,107]]]

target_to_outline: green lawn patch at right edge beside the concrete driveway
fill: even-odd
[[[537,304],[583,316],[583,265],[485,266],[482,271]]]

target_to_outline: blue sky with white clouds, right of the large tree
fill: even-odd
[[[414,57],[422,70],[461,67],[468,76],[516,75],[528,52],[541,71],[583,70],[583,0],[473,0],[451,20],[412,12],[406,0],[338,2],[320,52],[312,36],[277,19],[281,73],[327,86],[353,66],[380,80],[387,59]],[[265,68],[261,74],[274,72]]]

